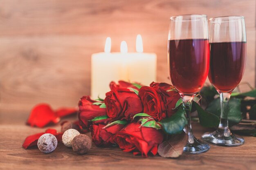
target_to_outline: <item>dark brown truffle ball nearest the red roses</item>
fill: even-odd
[[[87,153],[91,147],[92,141],[90,137],[84,134],[77,135],[72,141],[73,150],[80,155]]]

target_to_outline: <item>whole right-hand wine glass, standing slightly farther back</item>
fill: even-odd
[[[233,135],[228,126],[229,98],[245,71],[246,31],[243,16],[224,16],[209,20],[209,80],[220,94],[220,124],[215,132],[202,135],[205,141],[218,146],[239,146],[242,137]]]

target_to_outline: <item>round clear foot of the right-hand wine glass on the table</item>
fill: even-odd
[[[202,139],[207,141],[209,144],[217,146],[240,146],[245,142],[243,137],[238,137],[233,134],[230,134],[228,137],[226,137],[224,133],[218,130],[204,133],[202,135]]]

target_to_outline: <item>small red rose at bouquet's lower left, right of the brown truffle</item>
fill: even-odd
[[[106,125],[92,125],[92,141],[96,146],[111,146],[115,144],[113,136],[124,128],[124,124],[114,124],[104,128]]]

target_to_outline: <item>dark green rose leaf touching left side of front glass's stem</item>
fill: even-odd
[[[179,107],[174,115],[161,121],[164,132],[171,135],[182,132],[187,123],[185,111],[182,107]]]

